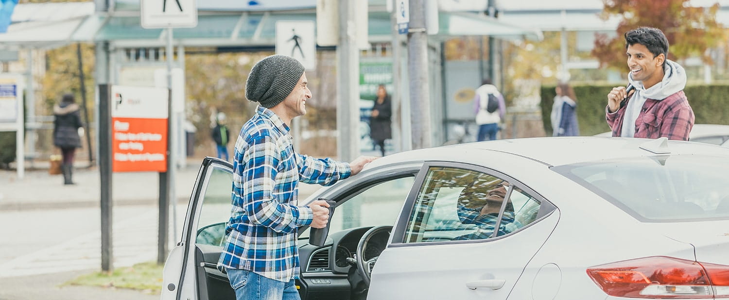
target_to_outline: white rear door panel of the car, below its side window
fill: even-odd
[[[388,245],[373,269],[368,299],[507,299],[558,220],[554,210],[518,234],[496,240]],[[503,286],[467,287],[483,280],[503,280]]]

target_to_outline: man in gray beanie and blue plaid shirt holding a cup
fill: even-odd
[[[304,67],[294,58],[272,55],[256,63],[246,98],[260,106],[235,142],[233,208],[218,268],[227,272],[237,299],[300,299],[297,228],[324,228],[329,205],[297,206],[299,181],[331,185],[375,157],[346,163],[294,151],[289,125],[306,114],[311,98]]]

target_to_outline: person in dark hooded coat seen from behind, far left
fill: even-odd
[[[79,127],[81,124],[81,115],[79,114],[79,105],[75,103],[74,95],[63,95],[61,103],[53,106],[53,144],[61,148],[63,155],[63,163],[61,170],[63,171],[63,184],[74,184],[71,176],[74,173],[74,154],[77,148],[81,147],[81,139],[79,138]]]

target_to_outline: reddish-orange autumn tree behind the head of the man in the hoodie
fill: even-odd
[[[668,59],[679,60],[700,56],[712,63],[707,49],[724,38],[724,30],[717,23],[719,4],[712,7],[691,7],[690,0],[603,0],[600,17],[621,17],[617,36],[596,34],[592,51],[601,66],[625,68],[625,39],[623,34],[642,26],[659,28],[670,44]]]

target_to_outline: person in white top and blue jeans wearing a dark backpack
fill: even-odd
[[[476,114],[476,125],[478,125],[478,141],[496,140],[496,133],[499,132],[499,123],[506,114],[504,96],[491,84],[490,79],[485,79],[483,84],[476,89],[476,96],[473,99],[474,111]]]

